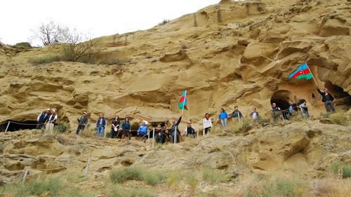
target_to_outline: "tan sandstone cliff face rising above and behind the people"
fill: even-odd
[[[58,54],[60,46],[20,53],[0,46],[0,121],[33,120],[47,107],[71,123],[81,111],[94,120],[100,111],[171,118],[185,89],[185,116],[194,121],[234,105],[245,116],[252,107],[265,114],[270,102],[282,107],[300,98],[317,115],[324,109],[314,81],[287,76],[307,62],[337,98],[351,93],[350,4],[221,1],[166,25],[96,39],[92,56],[100,64],[33,65],[30,59]]]

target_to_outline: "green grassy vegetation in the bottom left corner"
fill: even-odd
[[[77,188],[72,187],[57,177],[47,179],[34,179],[25,184],[9,184],[0,187],[0,194],[11,194],[14,197],[29,196],[57,196],[57,197],[83,197]]]

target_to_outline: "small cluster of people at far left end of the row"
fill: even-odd
[[[45,132],[52,133],[57,119],[58,114],[56,114],[55,109],[46,109],[37,117],[37,129],[41,129],[45,126]]]

